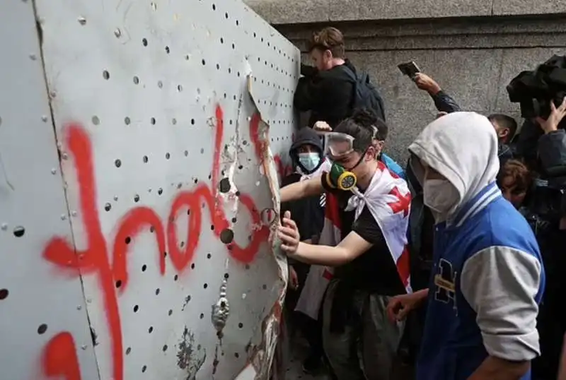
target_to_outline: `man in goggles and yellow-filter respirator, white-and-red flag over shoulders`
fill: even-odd
[[[290,258],[334,268],[323,302],[323,345],[338,380],[391,379],[403,331],[402,322],[387,321],[385,310],[388,299],[408,287],[410,193],[376,160],[374,128],[354,118],[342,121],[325,136],[333,162],[328,172],[281,192],[287,200],[303,195],[293,194],[301,187],[311,194],[328,191],[319,245],[300,242],[289,212],[279,237]]]

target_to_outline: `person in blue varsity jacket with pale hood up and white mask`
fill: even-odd
[[[456,112],[409,146],[432,210],[429,288],[395,297],[392,321],[428,299],[417,380],[530,380],[540,355],[536,316],[545,274],[535,236],[497,188],[490,121]]]

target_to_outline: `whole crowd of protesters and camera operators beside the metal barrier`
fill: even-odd
[[[413,72],[438,114],[400,165],[384,153],[381,95],[340,30],[314,33],[308,51],[294,103],[310,117],[291,146],[279,227],[305,372],[566,380],[566,97],[519,129]]]

